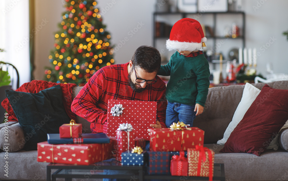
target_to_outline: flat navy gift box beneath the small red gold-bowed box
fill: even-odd
[[[79,138],[61,138],[60,134],[47,134],[47,141],[49,144],[110,143],[110,139],[105,133],[84,133]]]

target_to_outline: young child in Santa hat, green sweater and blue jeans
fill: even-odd
[[[200,23],[194,19],[183,18],[172,27],[166,48],[177,51],[158,72],[170,76],[166,88],[167,127],[178,121],[192,127],[194,118],[203,112],[210,84],[209,63],[200,51],[206,41]]]

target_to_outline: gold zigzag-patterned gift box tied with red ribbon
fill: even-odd
[[[203,146],[196,146],[195,149],[187,150],[188,176],[209,177],[212,181],[214,171],[213,150]]]

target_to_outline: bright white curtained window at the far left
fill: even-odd
[[[1,25],[5,27],[0,30],[0,48],[6,50],[6,52],[1,52],[0,61],[11,63],[16,67],[20,74],[20,85],[22,85],[30,81],[30,35],[29,23],[27,23],[29,22],[29,0],[5,0],[1,1],[0,6]],[[9,70],[11,79],[16,77],[16,73]],[[16,89],[16,82],[13,82],[12,88]]]

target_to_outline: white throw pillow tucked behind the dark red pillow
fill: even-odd
[[[238,123],[243,119],[245,113],[250,108],[253,101],[256,99],[258,94],[260,93],[260,89],[254,87],[253,85],[246,83],[242,98],[240,103],[238,104],[236,111],[234,112],[232,121],[229,123],[226,131],[224,132],[223,139],[217,141],[217,144],[224,145],[229,138],[230,134],[234,130],[234,128],[238,125]]]

